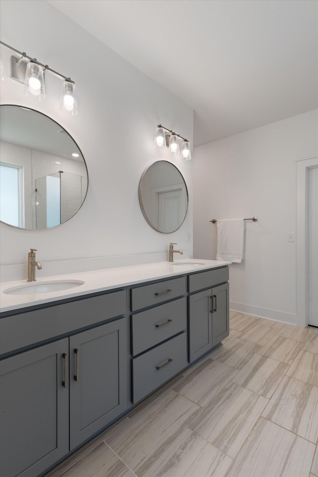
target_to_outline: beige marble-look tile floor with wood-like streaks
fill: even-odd
[[[45,477],[318,477],[318,328],[230,336]]]

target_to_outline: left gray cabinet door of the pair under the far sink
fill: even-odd
[[[212,349],[212,289],[189,297],[189,361]]]

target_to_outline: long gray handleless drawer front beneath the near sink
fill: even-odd
[[[126,314],[126,291],[1,318],[0,354]]]

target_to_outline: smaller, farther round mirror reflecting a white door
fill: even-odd
[[[188,189],[179,169],[166,160],[147,167],[139,182],[139,203],[148,224],[157,232],[178,230],[188,210]]]

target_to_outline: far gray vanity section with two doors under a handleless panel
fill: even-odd
[[[228,279],[228,267],[198,272],[188,277],[188,289],[191,293],[188,298],[190,363],[229,335]],[[198,291],[200,288],[206,289]]]

